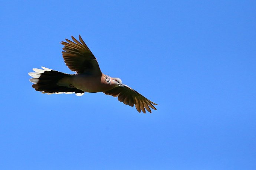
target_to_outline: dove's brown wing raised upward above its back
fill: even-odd
[[[99,64],[97,59],[92,54],[91,50],[87,47],[85,42],[82,40],[79,35],[79,40],[76,40],[73,36],[70,41],[66,39],[67,42],[61,42],[64,45],[62,48],[63,59],[72,71],[76,71],[76,73],[87,73],[92,75],[101,75],[101,69],[99,68]]]

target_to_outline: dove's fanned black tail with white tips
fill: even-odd
[[[77,96],[82,96],[85,92],[75,88],[71,85],[70,74],[55,71],[49,68],[42,67],[42,69],[33,68],[33,71],[29,75],[33,78],[29,79],[36,91],[47,93],[47,94],[71,94],[75,93]]]

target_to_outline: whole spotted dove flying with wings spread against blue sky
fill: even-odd
[[[33,68],[35,72],[29,72],[33,77],[29,81],[33,83],[32,87],[36,91],[47,94],[75,93],[77,96],[82,96],[85,92],[103,92],[118,97],[118,101],[125,105],[135,106],[139,113],[141,111],[146,113],[146,110],[151,113],[151,109],[157,110],[154,105],[158,104],[122,84],[120,78],[103,74],[97,59],[80,35],[80,42],[73,36],[71,38],[73,41],[66,39],[66,42],[61,42],[64,45],[62,57],[66,66],[76,73],[66,74],[46,67]]]

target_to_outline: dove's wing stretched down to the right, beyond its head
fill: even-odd
[[[153,105],[157,105],[154,102],[151,102],[140,93],[130,88],[129,86],[123,84],[122,86],[115,87],[109,91],[104,92],[106,95],[111,95],[114,97],[118,96],[118,101],[123,102],[125,105],[134,106],[138,112],[146,113],[146,110],[151,113],[150,108],[157,110]]]

